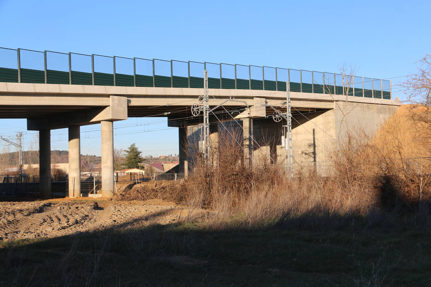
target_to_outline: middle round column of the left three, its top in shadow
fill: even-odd
[[[80,126],[69,126],[69,198],[81,196]]]

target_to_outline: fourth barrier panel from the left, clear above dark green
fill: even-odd
[[[81,54],[70,54],[72,84],[92,85],[93,74],[91,69],[91,56]]]

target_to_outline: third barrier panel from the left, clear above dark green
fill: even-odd
[[[47,52],[47,83],[69,84],[69,54]]]

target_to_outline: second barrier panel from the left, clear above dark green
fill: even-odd
[[[21,82],[45,83],[44,52],[20,49]]]

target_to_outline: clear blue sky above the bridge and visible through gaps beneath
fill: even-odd
[[[0,46],[327,72],[347,62],[358,76],[386,79],[414,74],[431,53],[429,11],[431,1],[398,0],[0,0]],[[178,131],[160,130],[163,118],[114,125],[118,148],[136,142],[144,154],[178,153]],[[0,120],[0,135],[25,129],[25,120]],[[83,154],[100,154],[98,129],[82,127]],[[24,136],[26,148],[34,134]],[[67,149],[67,130],[52,134],[52,148]]]

